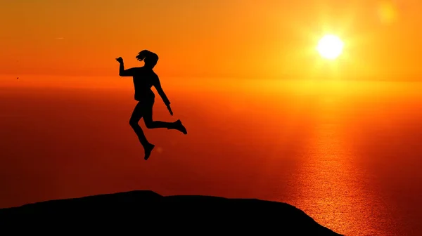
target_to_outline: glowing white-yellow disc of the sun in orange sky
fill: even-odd
[[[334,60],[343,52],[344,43],[341,39],[333,34],[326,34],[319,39],[316,50],[321,57],[328,60]]]

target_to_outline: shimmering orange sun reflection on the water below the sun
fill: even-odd
[[[376,188],[359,166],[338,112],[341,100],[323,96],[315,110],[313,137],[303,152],[292,200],[314,220],[344,235],[389,235]],[[388,223],[387,223],[388,225]]]

